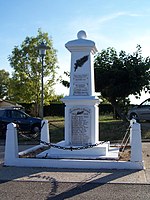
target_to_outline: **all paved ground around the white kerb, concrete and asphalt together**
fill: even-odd
[[[2,200],[150,199],[150,143],[143,143],[145,170],[141,171],[4,167],[3,157],[1,145]]]

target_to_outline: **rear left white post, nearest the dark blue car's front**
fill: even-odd
[[[42,121],[41,141],[46,142],[46,143],[50,143],[48,120]]]

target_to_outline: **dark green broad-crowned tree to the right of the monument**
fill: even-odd
[[[96,91],[101,92],[126,120],[123,105],[129,95],[138,97],[142,90],[148,92],[150,89],[150,58],[142,57],[139,45],[132,55],[125,51],[117,54],[114,48],[107,48],[96,55],[94,68]]]

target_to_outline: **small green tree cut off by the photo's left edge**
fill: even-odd
[[[6,72],[4,69],[0,70],[0,98],[8,97],[8,88],[9,88],[9,72]]]

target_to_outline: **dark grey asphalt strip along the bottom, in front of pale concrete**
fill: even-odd
[[[53,189],[46,182],[1,183],[2,200],[149,200],[149,185],[58,183]]]

